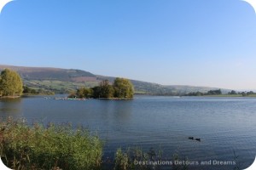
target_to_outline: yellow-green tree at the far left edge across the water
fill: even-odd
[[[0,77],[0,96],[20,96],[23,91],[23,83],[19,74],[5,69]]]

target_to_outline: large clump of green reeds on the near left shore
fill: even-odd
[[[12,119],[0,123],[0,154],[13,169],[96,169],[102,141],[83,127],[49,124],[32,127]]]

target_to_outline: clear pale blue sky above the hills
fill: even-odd
[[[256,14],[241,0],[15,0],[0,64],[256,89]]]

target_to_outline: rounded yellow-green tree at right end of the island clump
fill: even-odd
[[[133,98],[134,88],[128,79],[116,78],[113,82],[113,89],[116,98]]]

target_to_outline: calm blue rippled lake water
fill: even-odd
[[[234,169],[213,165],[234,161],[249,167],[256,155],[256,98],[152,97],[133,100],[55,100],[44,97],[0,100],[0,116],[27,122],[71,122],[84,125],[106,141],[105,157],[129,146],[162,150],[189,161],[211,161],[191,169]],[[201,142],[188,139],[201,138]]]

